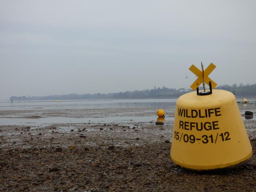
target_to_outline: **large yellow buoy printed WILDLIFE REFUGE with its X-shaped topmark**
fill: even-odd
[[[215,65],[210,66],[211,70],[207,69],[211,72]],[[195,68],[191,66],[190,69]],[[209,71],[210,91],[199,93],[198,86],[205,80],[205,71],[203,67],[200,73],[198,70],[195,70],[198,78],[191,85],[197,91],[177,99],[172,161],[193,170],[238,166],[251,158],[252,146],[236,98],[229,91],[212,90],[212,84],[217,84],[208,78]]]

